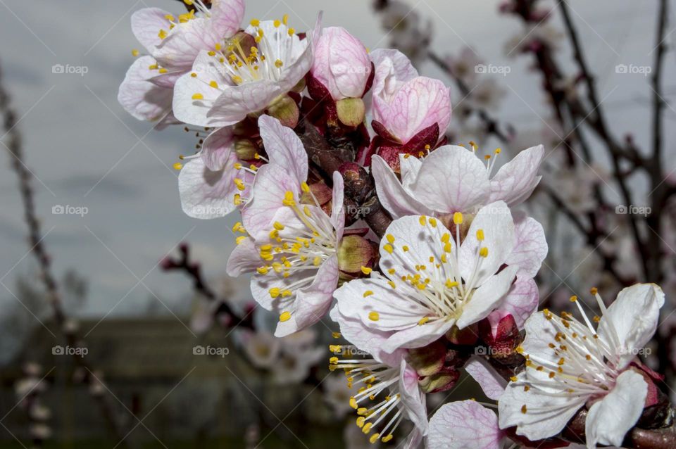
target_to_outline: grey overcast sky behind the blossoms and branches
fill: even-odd
[[[508,95],[494,113],[518,129],[542,127],[539,116],[544,116],[545,108],[537,89],[539,78],[527,71],[528,58],[505,56],[505,42],[520,31],[520,24],[497,13],[498,1],[408,3],[432,21],[432,46],[439,53],[470,45],[485,61],[509,65],[510,74],[500,79]],[[651,65],[656,1],[571,0],[570,4],[584,49],[599,76],[601,99],[613,129],[618,134],[633,132],[637,141],[646,142],[648,80],[641,75],[618,75],[615,65]],[[37,210],[47,233],[46,246],[58,274],[73,268],[89,279],[88,314],[144,310],[151,296],[167,304],[185,301],[189,294],[185,279],[164,274],[156,266],[163,255],[187,240],[208,273],[215,276],[224,271],[234,244],[230,232],[234,215],[201,221],[181,211],[177,172],[171,165],[180,153],[192,151],[193,138],[178,128],[151,131],[149,123],[134,120],[116,101],[118,86],[132,63],[130,51],[139,47],[130,30],[130,14],[144,6],[175,13],[182,9],[172,0],[0,0],[0,63],[21,117],[18,127],[27,165],[37,177]],[[370,1],[365,0],[248,1],[245,20],[289,13],[301,30],[314,23],[319,8],[325,11],[325,25],[348,28],[370,49],[387,45]],[[554,23],[559,24],[558,18]],[[676,33],[670,34],[668,42],[675,37]],[[665,91],[671,94],[675,91],[670,87],[673,54],[665,69]],[[561,58],[566,56],[567,50]],[[53,73],[57,64],[84,67],[87,73]],[[429,66],[422,71],[439,75]],[[671,106],[666,115],[665,141],[673,156],[676,113]],[[26,232],[16,177],[9,170],[6,153],[3,158],[0,275],[3,284],[13,289],[15,277],[33,272],[35,265],[25,257]],[[84,206],[88,213],[83,217],[54,215],[55,205]],[[14,301],[1,287],[0,298]]]

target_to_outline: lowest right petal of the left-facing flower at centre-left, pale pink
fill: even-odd
[[[305,329],[319,322],[331,307],[333,292],[338,285],[338,258],[332,255],[317,270],[312,284],[296,295],[296,325]]]

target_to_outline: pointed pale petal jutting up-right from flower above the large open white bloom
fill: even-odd
[[[511,206],[522,203],[540,182],[537,170],[543,157],[544,146],[538,145],[521,151],[503,165],[491,179],[489,201],[502,200]]]

